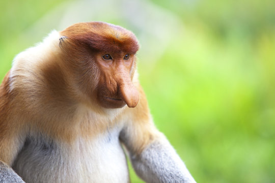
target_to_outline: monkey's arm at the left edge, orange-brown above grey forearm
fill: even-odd
[[[22,147],[20,117],[12,105],[14,96],[9,92],[9,73],[0,86],[0,182],[24,182],[10,167]],[[17,119],[17,120],[16,120]]]

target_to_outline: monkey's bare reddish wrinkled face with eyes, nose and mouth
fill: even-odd
[[[121,108],[125,104],[128,107],[137,105],[139,92],[130,75],[133,61],[134,55],[123,52],[97,54],[96,62],[100,70],[97,99],[102,107]]]

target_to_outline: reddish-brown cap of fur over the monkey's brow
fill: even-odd
[[[60,34],[75,46],[88,46],[95,51],[135,53],[139,49],[132,32],[104,22],[76,23]]]

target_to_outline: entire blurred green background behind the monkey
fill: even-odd
[[[274,0],[2,0],[0,15],[1,80],[52,29],[130,29],[155,125],[195,179],[275,182]]]

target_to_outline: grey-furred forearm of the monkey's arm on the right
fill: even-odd
[[[131,161],[136,173],[146,182],[196,182],[166,139],[152,142],[140,156],[132,156]]]

